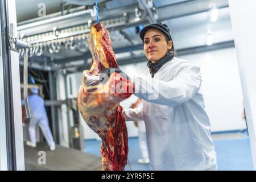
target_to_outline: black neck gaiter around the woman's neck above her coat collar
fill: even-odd
[[[153,78],[155,76],[155,73],[158,72],[158,70],[166,64],[168,61],[171,61],[172,58],[174,58],[174,52],[170,51],[167,53],[166,56],[164,56],[161,60],[157,61],[155,64],[151,61],[147,62],[147,67],[150,69],[150,75]]]

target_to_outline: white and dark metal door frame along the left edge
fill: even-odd
[[[3,90],[5,97],[7,170],[24,170],[24,146],[20,97],[18,52],[10,49],[9,32],[13,23],[16,31],[15,0],[0,1],[2,32]]]

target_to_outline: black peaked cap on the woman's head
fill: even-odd
[[[142,41],[144,39],[144,34],[150,28],[156,28],[156,29],[162,31],[164,33],[164,35],[167,36],[168,40],[172,40],[170,30],[169,30],[169,28],[166,24],[164,24],[164,23],[154,23],[154,24],[150,24],[150,25],[142,28],[142,30],[139,32],[139,37],[142,39]]]

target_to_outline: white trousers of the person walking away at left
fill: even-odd
[[[42,116],[42,117],[31,116],[30,126],[28,127],[31,142],[36,143],[36,124],[38,124],[40,129],[42,130],[44,138],[46,138],[46,142],[48,143],[48,145],[50,147],[55,146],[55,142],[53,140],[52,133],[49,128],[48,119],[46,116]]]

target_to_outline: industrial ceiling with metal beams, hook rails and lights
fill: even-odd
[[[218,10],[215,21],[210,20],[213,9]],[[95,1],[16,0],[16,17],[18,36],[31,45],[31,68],[89,67],[88,32],[96,22]],[[118,64],[146,60],[138,32],[155,22],[170,27],[178,52],[207,46],[209,35],[214,36],[213,46],[233,46],[228,0],[102,0],[98,18],[109,30]],[[20,52],[20,60],[22,56]]]

